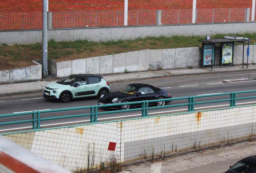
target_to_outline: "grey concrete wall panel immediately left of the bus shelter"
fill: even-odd
[[[187,66],[199,67],[201,65],[201,57],[199,55],[199,47],[188,48]]]

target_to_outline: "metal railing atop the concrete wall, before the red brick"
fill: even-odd
[[[250,8],[256,17],[254,8]],[[161,15],[157,15],[161,11]],[[52,28],[124,26],[124,10],[48,12]],[[192,23],[192,9],[128,10],[128,25]],[[246,21],[246,8],[196,9],[196,23]],[[159,17],[157,19],[157,17]],[[158,22],[157,22],[158,21]],[[42,12],[0,12],[0,30],[42,28]]]

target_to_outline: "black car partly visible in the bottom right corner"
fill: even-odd
[[[256,173],[256,155],[240,160],[235,165],[230,166],[230,169],[225,173]]]

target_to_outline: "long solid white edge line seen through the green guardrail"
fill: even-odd
[[[256,103],[256,102],[237,103],[236,105],[243,105],[243,104],[249,104],[249,103]],[[200,107],[200,108],[194,108],[194,109],[204,109],[204,108],[223,107],[223,106],[229,106],[229,105],[219,105],[219,106],[210,106],[210,107]],[[149,113],[149,115],[151,115],[151,114],[157,114],[157,113],[176,112],[176,111],[188,111],[188,109],[180,109],[180,110],[173,110],[173,111],[162,111],[162,112],[156,112],[156,113]],[[139,116],[139,115],[141,115],[141,114],[127,115],[127,116],[120,116],[120,117],[109,117],[109,118],[103,118],[103,119],[98,119],[98,120],[113,119],[113,118],[122,118],[122,117],[134,117],[134,116]],[[40,126],[43,127],[43,126],[61,125],[61,124],[69,124],[69,123],[81,123],[81,122],[86,122],[86,121],[90,121],[90,120],[73,121],[73,122],[67,122],[67,123],[56,123],[56,124],[48,124],[48,125],[40,125]],[[0,130],[0,131],[9,131],[9,130],[18,130],[18,129],[27,129],[27,128],[32,128],[32,126],[31,126],[31,127],[19,127],[19,128],[14,128],[14,129],[4,129],[4,130]]]

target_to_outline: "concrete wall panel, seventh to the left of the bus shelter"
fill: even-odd
[[[124,72],[126,63],[126,53],[113,55],[113,72]]]

